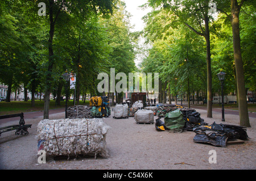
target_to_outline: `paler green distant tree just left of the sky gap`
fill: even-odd
[[[119,2],[117,6],[118,9],[113,12],[113,16],[104,20],[104,26],[108,32],[108,44],[112,47],[105,72],[110,73],[110,68],[115,68],[115,74],[122,72],[128,75],[136,69],[134,47],[137,39],[136,33],[130,32],[130,14],[125,10],[125,3]],[[122,102],[123,92],[115,95],[117,95],[115,96],[117,103]],[[114,100],[114,93],[112,93],[112,100]]]

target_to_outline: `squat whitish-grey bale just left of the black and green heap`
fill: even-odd
[[[134,119],[137,123],[154,123],[154,112],[151,110],[138,110]]]

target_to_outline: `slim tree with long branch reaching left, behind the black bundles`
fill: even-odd
[[[212,117],[212,70],[210,59],[210,31],[209,23],[212,17],[208,16],[209,1],[169,1],[150,0],[148,5],[170,12],[171,23],[184,23],[197,35],[203,36],[207,52],[207,117]]]

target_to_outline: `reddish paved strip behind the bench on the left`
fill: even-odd
[[[53,113],[60,113],[64,112],[65,108],[58,108],[54,110],[49,110],[49,115]],[[34,112],[24,112],[24,120],[26,122],[26,119],[33,119],[33,118],[38,118],[38,117],[43,117],[44,111],[34,111]],[[63,117],[65,118],[65,117]],[[1,119],[0,124],[7,123],[9,121],[19,121],[19,117],[11,117],[11,118],[6,118],[6,119]],[[18,123],[17,123],[18,124]]]

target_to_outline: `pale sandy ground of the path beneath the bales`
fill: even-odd
[[[221,123],[221,113],[213,112],[213,118],[207,118],[205,110],[199,110],[206,123]],[[62,119],[63,113],[50,115],[49,119]],[[157,117],[155,117],[156,119]],[[170,133],[158,132],[155,124],[137,124],[134,117],[129,119],[105,118],[112,127],[106,134],[106,143],[110,157],[77,157],[47,160],[38,163],[36,126],[42,117],[28,119],[32,124],[27,136],[15,136],[15,131],[2,133],[0,137],[1,169],[79,169],[79,170],[171,170],[171,169],[256,169],[256,119],[250,117],[251,128],[247,128],[250,137],[245,144],[228,145],[221,148],[193,142],[194,132]],[[162,119],[163,120],[163,119]],[[239,117],[225,115],[225,124],[239,125]],[[0,127],[17,124],[18,121],[1,124]],[[223,123],[223,122],[222,122]],[[217,153],[217,163],[209,163],[210,150]],[[183,164],[182,164],[183,163]]]

